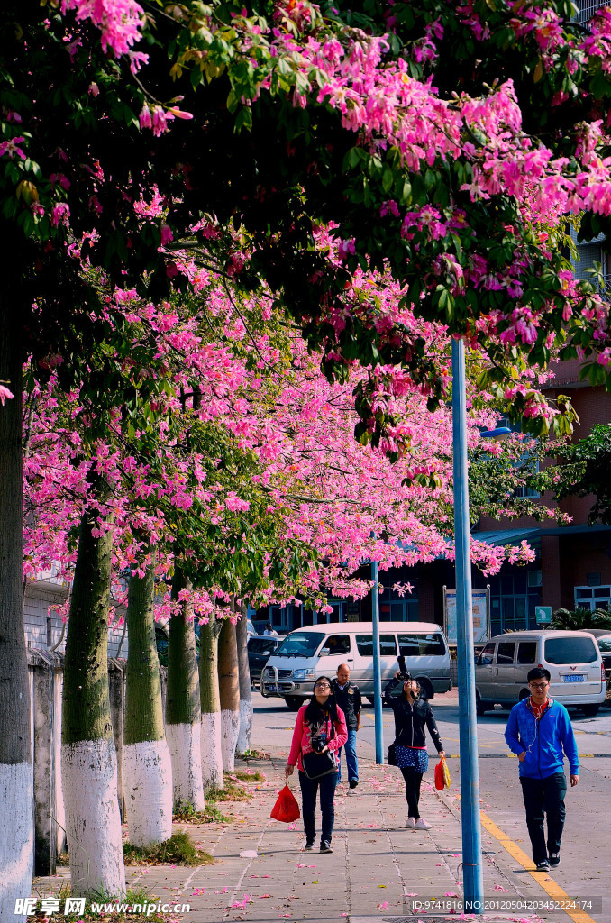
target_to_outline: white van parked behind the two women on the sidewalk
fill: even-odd
[[[431,699],[452,688],[448,642],[432,622],[382,622],[379,628],[382,683],[399,669],[401,653],[407,669],[420,680]],[[282,698],[298,709],[313,693],[316,677],[331,679],[340,664],[348,664],[350,678],[362,695],[373,701],[374,644],[371,622],[341,622],[295,629],[270,656],[261,674],[261,695]]]

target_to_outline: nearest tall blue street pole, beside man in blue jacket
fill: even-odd
[[[484,909],[477,717],[473,662],[473,601],[469,545],[469,478],[464,342],[452,340],[452,442],[454,451],[454,547],[461,747],[462,875],[466,913]]]

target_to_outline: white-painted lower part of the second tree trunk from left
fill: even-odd
[[[114,740],[62,745],[62,784],[73,894],[126,893]]]

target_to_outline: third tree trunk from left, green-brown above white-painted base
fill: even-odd
[[[129,842],[162,843],[172,836],[172,758],[163,728],[162,683],[155,645],[155,568],[129,578],[123,785]]]

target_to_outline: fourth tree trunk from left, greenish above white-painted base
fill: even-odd
[[[182,590],[190,589],[176,561],[172,599],[177,602]],[[204,809],[201,781],[201,710],[198,689],[198,662],[191,607],[180,604],[170,619],[168,636],[168,689],[165,701],[165,734],[172,754],[174,803],[188,802]]]

